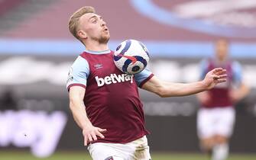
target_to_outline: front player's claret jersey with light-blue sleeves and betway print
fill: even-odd
[[[147,69],[136,75],[118,70],[111,50],[86,50],[73,62],[66,88],[86,88],[84,104],[89,120],[93,126],[107,129],[105,139],[96,142],[126,143],[148,133],[138,87],[151,77]]]

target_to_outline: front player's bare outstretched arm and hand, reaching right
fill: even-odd
[[[141,88],[154,92],[160,97],[184,96],[207,91],[219,83],[226,82],[226,77],[226,70],[222,68],[212,69],[202,81],[192,83],[164,82],[153,76]]]

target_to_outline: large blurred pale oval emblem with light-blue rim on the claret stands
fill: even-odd
[[[131,5],[138,12],[161,24],[217,36],[256,37],[256,1],[180,0],[158,3],[131,0]]]

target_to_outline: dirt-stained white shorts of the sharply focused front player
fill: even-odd
[[[93,160],[150,160],[147,137],[143,136],[132,142],[106,143],[96,142],[88,146]]]

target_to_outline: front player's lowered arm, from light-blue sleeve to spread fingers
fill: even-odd
[[[66,88],[69,90],[70,110],[77,125],[83,130],[84,145],[97,140],[97,136],[104,138],[102,133],[106,130],[92,126],[86,114],[83,98],[86,94],[86,83],[89,76],[89,64],[86,59],[79,56],[71,66]]]

